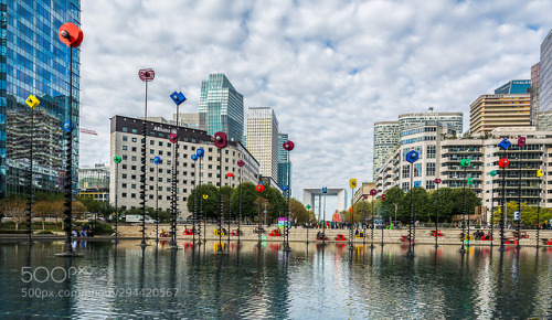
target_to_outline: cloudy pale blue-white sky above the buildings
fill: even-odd
[[[529,79],[552,28],[549,0],[82,1],[81,164],[109,161],[109,118],[197,113],[201,81],[224,73],[248,107],[272,107],[295,142],[293,195],[372,180],[373,124],[464,113]]]

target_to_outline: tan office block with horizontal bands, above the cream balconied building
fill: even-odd
[[[490,132],[499,127],[526,127],[531,124],[529,94],[482,95],[469,106],[469,131]]]

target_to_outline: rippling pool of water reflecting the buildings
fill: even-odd
[[[552,318],[552,248],[137,244],[0,243],[0,318]]]

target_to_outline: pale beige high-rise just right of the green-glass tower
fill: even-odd
[[[259,173],[278,181],[278,119],[273,108],[250,108],[247,150],[257,159]]]

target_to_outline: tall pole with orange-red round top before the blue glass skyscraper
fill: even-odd
[[[70,83],[68,83],[68,120],[65,121],[65,252],[56,256],[82,256],[73,249],[71,244],[71,231],[73,226],[73,47],[78,47],[83,42],[83,31],[72,22],[66,22],[60,26],[57,32],[60,41],[70,47]]]

